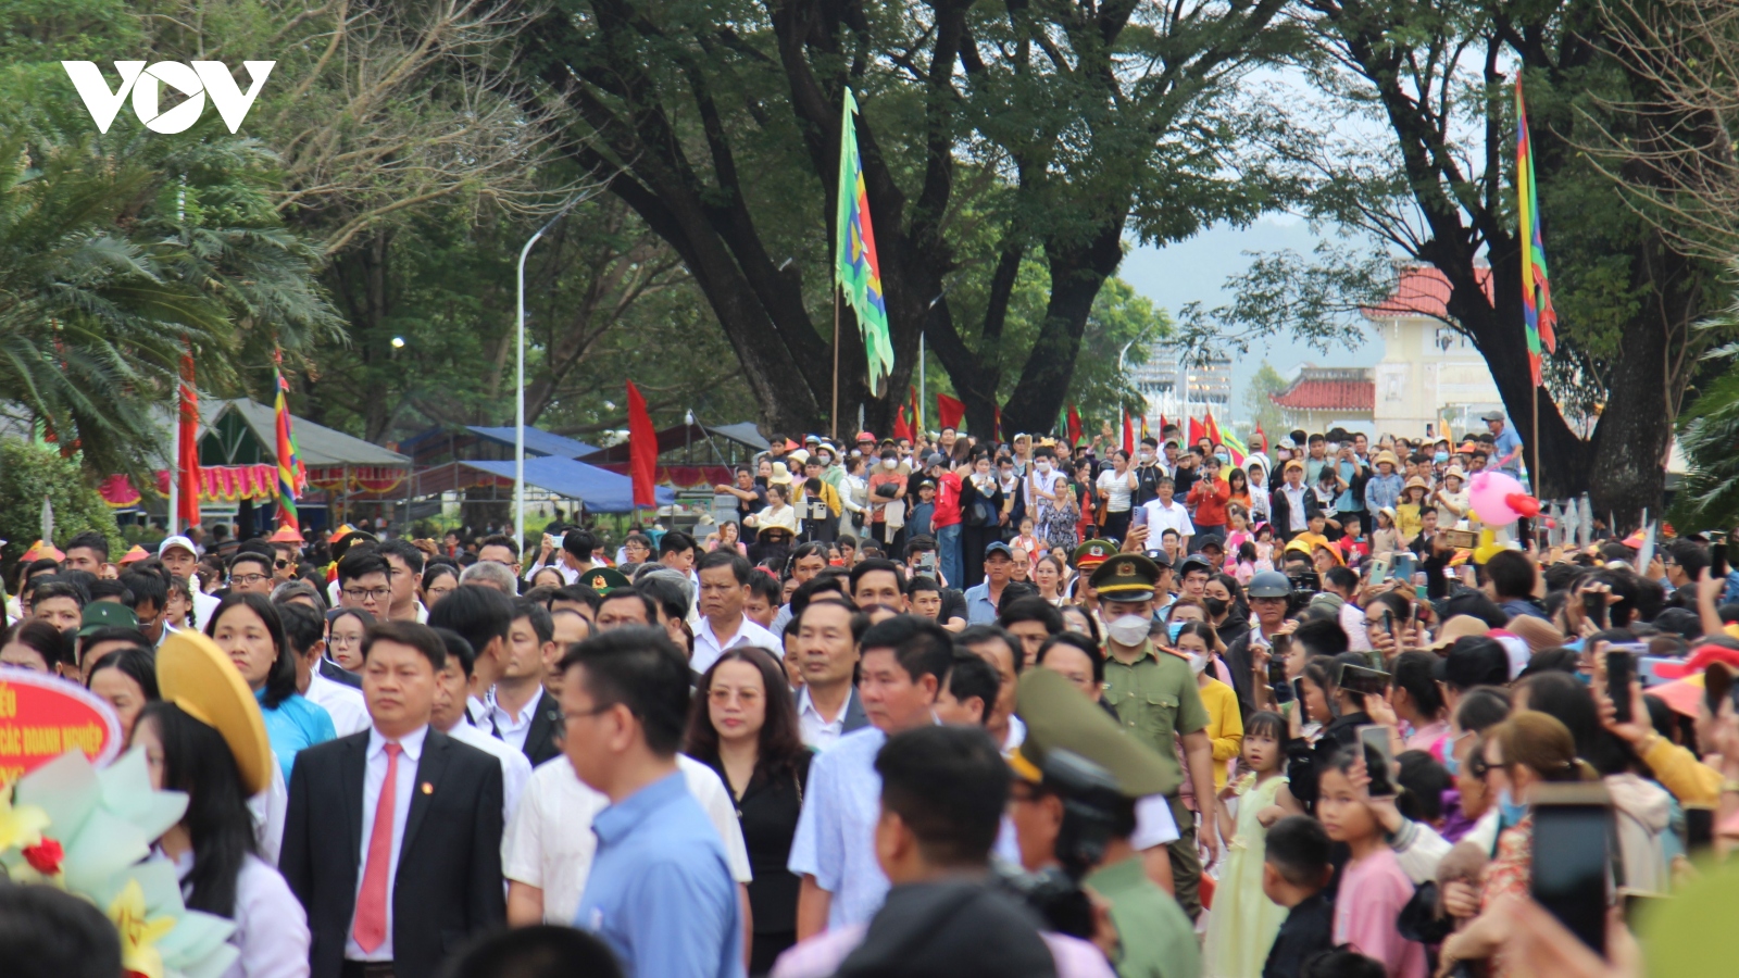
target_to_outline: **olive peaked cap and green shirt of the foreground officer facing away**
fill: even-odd
[[[1016,712],[1026,720],[1026,741],[1009,766],[1024,781],[1043,783],[1049,754],[1069,752],[1109,774],[1125,799],[1177,790],[1177,762],[1170,752],[1153,750],[1141,738],[1129,736],[1127,727],[1111,720],[1061,673],[1026,670]],[[1189,915],[1148,879],[1139,854],[1103,865],[1082,882],[1111,905],[1120,945],[1113,964],[1122,978],[1200,975],[1202,955]]]

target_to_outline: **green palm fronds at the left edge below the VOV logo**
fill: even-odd
[[[271,155],[214,125],[186,136],[0,143],[0,412],[42,421],[92,475],[165,461],[184,350],[202,390],[266,393],[275,346],[343,336],[263,190]]]

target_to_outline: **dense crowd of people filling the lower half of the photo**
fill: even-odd
[[[157,851],[237,976],[1640,975],[1607,905],[1739,837],[1725,534],[1482,526],[1522,463],[1487,423],[774,437],[734,512],[617,546],[80,534],[19,564],[0,665],[191,797]],[[163,696],[177,632],[264,745]],[[1536,879],[1565,785],[1598,954]]]

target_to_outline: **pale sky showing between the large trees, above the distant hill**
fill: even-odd
[[[1231,294],[1224,291],[1226,278],[1249,268],[1250,256],[1245,252],[1290,249],[1309,254],[1320,238],[1301,218],[1269,214],[1243,230],[1216,224],[1174,245],[1137,245],[1123,256],[1118,275],[1176,318],[1184,303],[1200,301],[1207,308],[1228,303]],[[1243,392],[1263,360],[1287,374],[1299,364],[1369,367],[1381,358],[1381,343],[1365,343],[1355,350],[1330,348],[1329,353],[1285,336],[1252,343],[1247,357],[1233,352],[1231,405],[1236,414],[1243,412]]]

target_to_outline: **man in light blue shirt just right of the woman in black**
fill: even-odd
[[[882,908],[889,882],[875,853],[875,757],[889,734],[936,722],[936,691],[951,661],[953,635],[927,618],[899,614],[864,632],[857,693],[871,726],[842,736],[809,767],[786,863],[803,879],[796,940],[868,924]]]

